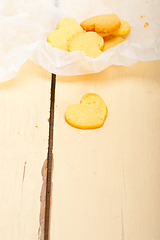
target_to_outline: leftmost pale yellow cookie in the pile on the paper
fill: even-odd
[[[52,47],[68,51],[73,38],[83,32],[75,19],[66,17],[61,19],[56,29],[48,35],[47,42],[51,43]]]

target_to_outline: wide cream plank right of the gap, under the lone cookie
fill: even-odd
[[[50,240],[160,239],[160,61],[57,77]],[[104,126],[65,122],[88,92],[108,106]]]

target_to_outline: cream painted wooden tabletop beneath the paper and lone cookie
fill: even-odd
[[[50,240],[160,239],[159,76],[160,61],[57,76],[55,106],[51,73],[31,61],[0,83],[0,239],[48,240],[47,159]],[[65,122],[87,92],[107,104],[100,129]]]

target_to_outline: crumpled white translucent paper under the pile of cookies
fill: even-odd
[[[77,22],[106,13],[127,20],[131,32],[122,42],[97,58],[81,51],[66,52],[46,41],[63,17]],[[131,66],[160,59],[159,0],[1,0],[0,81],[17,75],[28,59],[57,75],[100,72],[111,65]]]

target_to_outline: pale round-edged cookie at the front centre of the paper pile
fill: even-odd
[[[86,56],[96,58],[102,53],[103,46],[104,40],[99,34],[85,32],[72,40],[69,51],[84,51]]]

